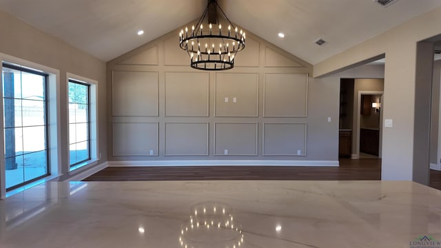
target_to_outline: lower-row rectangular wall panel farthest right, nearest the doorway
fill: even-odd
[[[263,155],[306,156],[306,123],[263,123]]]

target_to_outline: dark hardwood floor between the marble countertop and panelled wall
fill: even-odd
[[[107,167],[86,181],[136,180],[380,180],[381,159],[340,159],[340,167],[164,166]],[[441,172],[431,170],[431,187],[441,189]]]

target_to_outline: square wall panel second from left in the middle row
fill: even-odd
[[[165,116],[208,116],[208,72],[165,72]]]

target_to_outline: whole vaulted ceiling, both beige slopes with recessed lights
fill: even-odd
[[[218,3],[241,28],[312,64],[441,6],[440,0],[398,0],[387,8],[373,0]],[[207,0],[0,0],[0,10],[103,61],[198,19],[206,5]],[[138,36],[138,30],[145,34]],[[320,47],[318,38],[329,43]]]

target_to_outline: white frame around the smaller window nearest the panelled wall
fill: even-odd
[[[68,163],[69,172],[78,172],[83,169],[88,169],[94,165],[96,165],[100,159],[99,149],[98,149],[98,81],[93,79],[88,79],[84,76],[79,76],[76,74],[72,74],[70,72],[66,73],[66,99],[69,99],[69,80],[78,81],[80,83],[85,83],[89,85],[89,108],[90,108],[90,160],[84,161],[83,163],[79,163],[78,165],[74,165],[70,167],[70,163]],[[66,113],[69,114],[69,103],[67,101],[66,104]],[[69,121],[67,121],[67,130],[69,132]],[[69,138],[68,138],[69,139]],[[69,145],[70,142],[68,142]],[[68,151],[69,151],[68,147]],[[70,152],[68,152],[68,161],[70,161]]]

